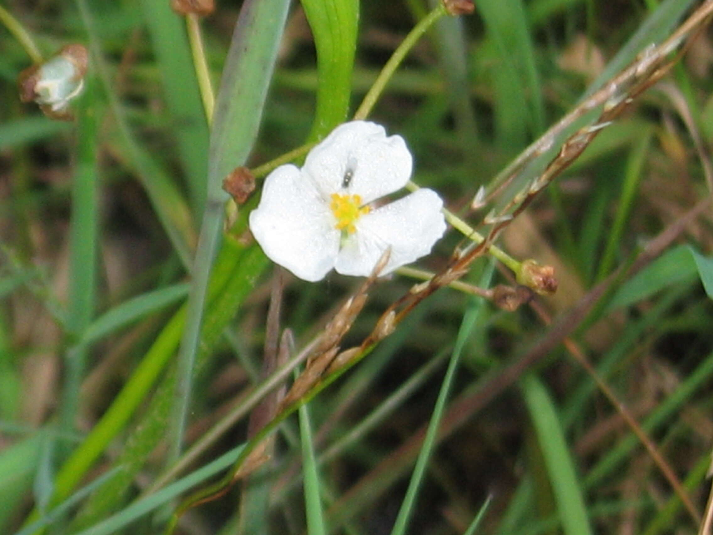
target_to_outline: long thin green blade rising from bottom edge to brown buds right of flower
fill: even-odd
[[[493,264],[491,263],[483,273],[478,285],[481,287],[488,287],[492,276]],[[416,505],[416,498],[418,496],[419,489],[421,488],[421,484],[423,484],[424,481],[424,475],[426,474],[426,467],[428,466],[429,458],[431,457],[434,447],[436,447],[438,426],[441,424],[441,418],[443,417],[443,412],[446,409],[448,394],[451,392],[451,384],[453,384],[453,379],[456,376],[456,370],[458,370],[458,364],[461,361],[463,347],[466,345],[468,337],[471,335],[471,332],[473,332],[475,326],[481,321],[484,305],[484,300],[473,298],[468,305],[466,313],[463,315],[461,328],[458,330],[458,336],[456,337],[456,345],[453,347],[453,354],[451,355],[450,362],[448,362],[448,370],[446,370],[446,374],[443,377],[441,389],[438,392],[438,399],[436,399],[436,406],[434,407],[434,412],[431,415],[429,427],[426,430],[424,444],[421,446],[419,458],[416,459],[416,466],[414,467],[413,474],[411,474],[409,488],[406,490],[404,501],[401,502],[401,509],[399,509],[399,515],[396,516],[396,521],[394,522],[394,528],[391,530],[391,535],[404,535],[406,533],[409,519],[411,519],[411,512]]]

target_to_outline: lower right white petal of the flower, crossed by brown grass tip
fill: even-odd
[[[446,231],[443,200],[429,189],[382,206],[356,221],[356,233],[339,251],[335,269],[344,275],[369,275],[386,248],[389,263],[382,275],[428,255]]]

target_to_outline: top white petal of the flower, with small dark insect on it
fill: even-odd
[[[364,203],[399,190],[411,178],[413,158],[401,136],[386,137],[384,127],[352,121],[334,128],[307,155],[302,173],[322,196],[361,195]]]

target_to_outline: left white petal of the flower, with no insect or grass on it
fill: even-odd
[[[250,230],[270,260],[301,279],[321,280],[334,267],[340,235],[334,216],[294,165],[267,176]]]

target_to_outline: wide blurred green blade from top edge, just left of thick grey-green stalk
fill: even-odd
[[[208,125],[185,26],[168,2],[140,4],[161,73],[172,131],[178,142],[178,156],[188,179],[191,205],[194,213],[200,214],[207,195]]]

